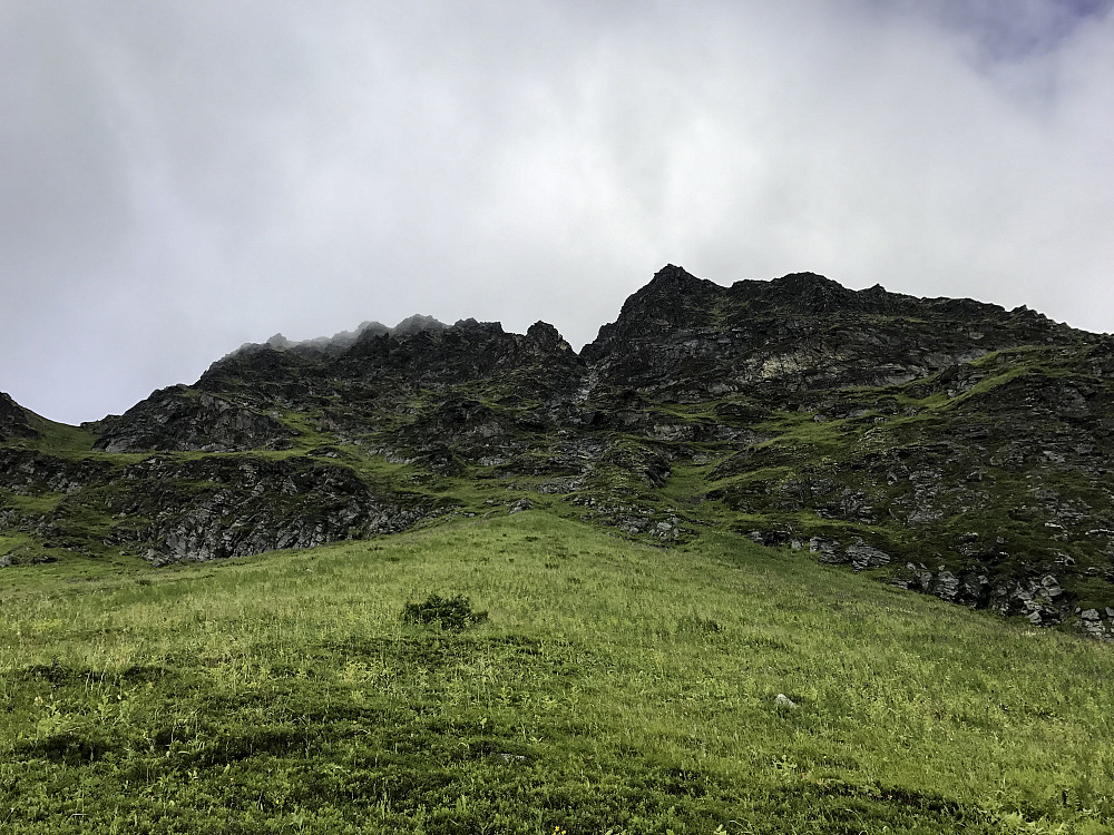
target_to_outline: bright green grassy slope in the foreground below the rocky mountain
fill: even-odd
[[[6,569],[0,832],[1114,832],[1112,647],[544,504]]]

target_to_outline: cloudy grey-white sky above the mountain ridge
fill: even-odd
[[[1114,0],[0,0],[0,391],[120,413],[667,263],[1114,331]]]

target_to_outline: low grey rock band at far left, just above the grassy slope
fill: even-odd
[[[3,451],[0,471],[7,490],[38,500],[0,509],[3,529],[33,534],[46,549],[123,549],[157,564],[394,533],[449,507],[315,456],[124,463]]]

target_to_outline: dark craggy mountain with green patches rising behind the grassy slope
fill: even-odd
[[[0,399],[0,561],[242,557],[546,503],[1114,640],[1114,340],[666,266],[575,352],[465,320],[272,337],[77,428]]]

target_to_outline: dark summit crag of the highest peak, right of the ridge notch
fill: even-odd
[[[605,381],[700,402],[901,384],[1069,332],[1026,311],[854,292],[812,273],[721,287],[670,265],[582,354]]]

